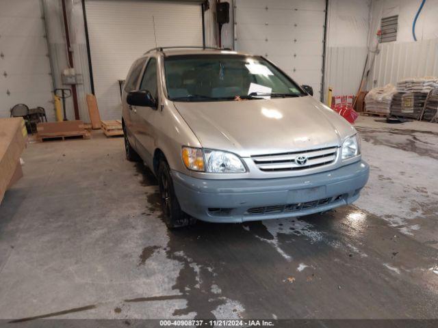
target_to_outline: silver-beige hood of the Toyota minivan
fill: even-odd
[[[311,96],[218,102],[174,102],[203,148],[242,157],[341,146],[355,133]]]

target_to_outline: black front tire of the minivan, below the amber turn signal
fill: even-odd
[[[161,159],[158,167],[159,197],[162,204],[163,219],[168,229],[181,228],[194,223],[194,219],[184,213],[179,206],[172,176],[166,160]]]

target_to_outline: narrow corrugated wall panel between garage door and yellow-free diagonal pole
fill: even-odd
[[[324,102],[329,87],[333,87],[333,96],[357,93],[367,51],[365,46],[327,48]]]

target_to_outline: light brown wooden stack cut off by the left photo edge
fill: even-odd
[[[26,141],[23,118],[0,118],[0,203],[6,189],[23,176],[20,156]]]

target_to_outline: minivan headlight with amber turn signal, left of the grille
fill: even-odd
[[[240,158],[231,152],[183,147],[185,167],[208,173],[243,173],[246,169]]]

